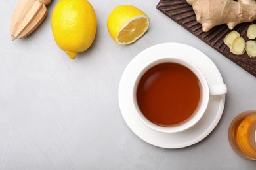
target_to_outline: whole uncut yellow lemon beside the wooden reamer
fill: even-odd
[[[51,25],[56,44],[75,59],[77,52],[93,44],[97,27],[95,10],[87,0],[60,0],[54,7]]]

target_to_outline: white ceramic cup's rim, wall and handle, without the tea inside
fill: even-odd
[[[140,78],[151,67],[154,67],[155,65],[158,65],[160,63],[168,63],[168,62],[178,63],[190,69],[190,71],[192,71],[194,75],[197,76],[200,82],[200,93],[201,93],[198,107],[196,111],[193,113],[192,117],[189,120],[182,122],[181,124],[177,124],[171,127],[160,126],[160,125],[154,124],[153,122],[150,122],[150,120],[148,120],[144,116],[144,114],[142,114],[137,104],[137,86],[139,84]],[[176,133],[179,131],[184,131],[186,129],[189,129],[190,127],[194,126],[200,120],[200,118],[202,118],[209,104],[209,97],[211,95],[225,95],[227,93],[226,84],[214,84],[209,86],[202,71],[200,71],[200,69],[196,65],[194,65],[194,63],[184,58],[171,57],[171,56],[162,57],[154,61],[150,61],[149,63],[145,63],[144,65],[142,65],[141,68],[142,69],[140,69],[134,82],[132,82],[133,83],[133,99],[132,99],[133,109],[135,110],[135,113],[137,114],[137,116],[139,117],[139,119],[143,124],[145,124],[146,126],[156,131],[160,131],[163,133]]]

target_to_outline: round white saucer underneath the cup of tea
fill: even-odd
[[[176,56],[188,59],[197,65],[205,75],[209,85],[223,84],[223,78],[213,61],[205,54],[185,44],[158,44],[140,52],[127,65],[119,84],[119,107],[127,125],[140,139],[161,148],[184,148],[198,143],[217,126],[224,109],[225,95],[210,97],[209,106],[200,122],[186,131],[179,133],[161,133],[142,124],[131,103],[132,80],[141,63],[149,62],[161,56]]]

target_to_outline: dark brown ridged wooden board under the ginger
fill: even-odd
[[[196,35],[203,42],[209,44],[209,46],[223,54],[223,56],[245,69],[245,71],[256,76],[256,58],[250,58],[246,53],[236,56],[224,44],[223,39],[230,32],[226,24],[213,27],[213,29],[206,33],[203,32],[202,25],[196,21],[196,15],[192,6],[186,3],[186,0],[160,0],[156,9],[190,31],[190,33]],[[248,41],[246,33],[249,25],[251,25],[251,22],[239,24],[233,30],[238,31],[241,37]]]

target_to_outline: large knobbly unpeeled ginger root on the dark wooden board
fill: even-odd
[[[186,0],[192,5],[196,20],[202,24],[203,31],[227,24],[233,29],[242,22],[252,22],[256,19],[255,0]]]

